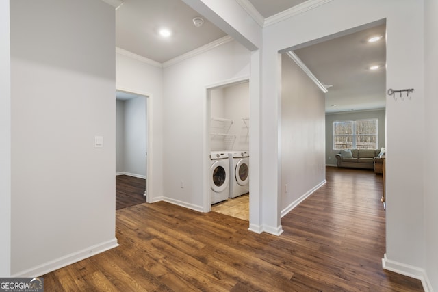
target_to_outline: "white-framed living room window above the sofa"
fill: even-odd
[[[333,122],[333,149],[377,149],[377,120]]]

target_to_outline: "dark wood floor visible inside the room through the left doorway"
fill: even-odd
[[[116,176],[116,210],[146,202],[146,181],[127,175]]]

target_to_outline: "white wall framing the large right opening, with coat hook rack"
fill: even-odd
[[[387,96],[387,211],[386,240],[389,269],[422,276],[424,253],[423,163],[424,40],[423,3],[397,0],[337,0],[298,14],[263,31],[262,177],[263,218],[279,225],[279,117],[278,51],[386,18],[387,88],[415,88],[411,100]],[[318,21],[309,21],[315,20]],[[409,21],[407,21],[409,20]],[[409,38],[407,38],[409,36]],[[409,133],[410,139],[406,139]],[[414,170],[414,171],[413,171]],[[268,198],[268,194],[273,194]],[[268,199],[268,200],[265,200]],[[409,216],[407,216],[409,214]],[[402,263],[404,265],[400,265]]]

